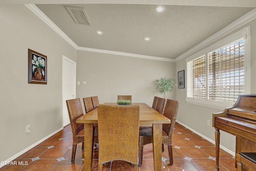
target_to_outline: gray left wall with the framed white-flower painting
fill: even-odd
[[[1,4],[0,23],[0,161],[5,161],[62,127],[62,55],[76,61],[77,54],[24,5]],[[28,84],[28,48],[47,56],[47,85]]]

